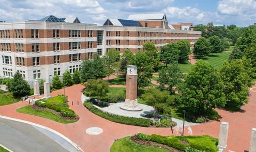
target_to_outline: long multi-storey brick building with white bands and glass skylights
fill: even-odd
[[[12,78],[19,71],[32,86],[34,79],[49,81],[65,70],[74,73],[81,68],[82,60],[96,53],[104,55],[109,49],[137,53],[149,41],[160,51],[162,46],[180,39],[188,39],[193,47],[201,36],[199,31],[169,29],[165,14],[151,15],[151,19],[148,16],[108,19],[103,26],[53,15],[41,20],[1,22],[0,76]]]

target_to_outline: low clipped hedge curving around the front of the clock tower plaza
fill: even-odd
[[[84,102],[84,106],[90,110],[92,113],[103,117],[105,119],[108,119],[111,122],[121,123],[121,124],[127,124],[127,125],[135,125],[135,126],[143,126],[143,127],[149,127],[150,126],[150,119],[145,118],[135,118],[135,117],[125,117],[125,116],[118,116],[106,113],[104,111],[99,110],[98,108],[91,105],[90,102]]]

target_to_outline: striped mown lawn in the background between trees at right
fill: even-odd
[[[225,51],[222,53],[215,53],[208,56],[205,56],[203,58],[196,57],[196,59],[203,59],[206,62],[209,62],[211,66],[213,66],[215,69],[219,69],[224,61],[227,61],[229,58],[229,55],[231,54],[231,51]]]

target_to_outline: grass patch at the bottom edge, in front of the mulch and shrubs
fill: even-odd
[[[144,146],[139,145],[131,140],[131,137],[125,137],[118,139],[110,147],[110,152],[119,152],[119,151],[133,151],[133,152],[147,152],[147,151],[157,151],[157,152],[167,152],[169,150],[154,147],[154,146]]]

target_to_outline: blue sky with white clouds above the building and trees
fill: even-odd
[[[103,25],[130,14],[165,13],[169,23],[247,27],[256,22],[256,0],[0,0],[0,21],[15,22],[78,17],[82,23]]]

